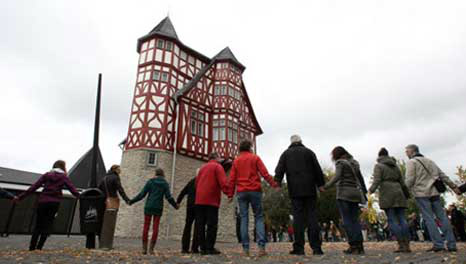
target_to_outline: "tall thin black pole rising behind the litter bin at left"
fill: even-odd
[[[99,73],[99,81],[97,83],[97,100],[95,107],[95,123],[94,123],[94,146],[92,147],[92,164],[91,164],[91,181],[90,188],[97,187],[97,155],[99,153],[99,125],[100,125],[100,93],[102,90],[102,73]],[[95,248],[95,233],[86,235],[86,248]]]

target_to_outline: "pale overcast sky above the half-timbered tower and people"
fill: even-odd
[[[294,133],[323,167],[346,147],[366,178],[382,146],[418,144],[453,178],[466,165],[465,1],[15,0],[0,3],[0,166],[71,167],[92,145],[99,72],[101,149],[119,163],[136,41],[168,13],[185,44],[246,65],[271,172]]]

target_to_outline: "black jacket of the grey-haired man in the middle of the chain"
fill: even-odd
[[[314,152],[302,143],[293,143],[283,152],[275,169],[275,181],[281,184],[286,174],[290,197],[315,197],[316,188],[324,186],[324,173]]]

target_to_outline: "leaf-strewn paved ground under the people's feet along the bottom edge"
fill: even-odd
[[[324,243],[325,255],[314,257],[306,252],[306,257],[288,255],[290,243],[271,243],[267,245],[269,256],[245,258],[241,256],[241,247],[233,243],[217,243],[223,252],[219,256],[183,255],[179,253],[180,242],[162,240],[157,245],[155,256],[139,253],[140,241],[136,239],[117,238],[115,250],[86,250],[83,237],[52,236],[43,251],[33,253],[25,250],[29,236],[11,236],[0,238],[0,263],[212,263],[212,264],[249,264],[249,263],[466,263],[466,244],[459,244],[459,251],[451,253],[426,253],[430,244],[415,243],[412,254],[394,254],[394,242],[366,243],[366,255],[360,257],[345,256],[341,250],[345,243]],[[309,250],[309,249],[307,249]],[[257,253],[252,248],[252,253]]]

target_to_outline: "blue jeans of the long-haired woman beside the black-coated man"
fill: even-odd
[[[337,200],[338,210],[343,218],[343,227],[345,228],[348,242],[362,242],[361,225],[359,224],[359,203]]]

